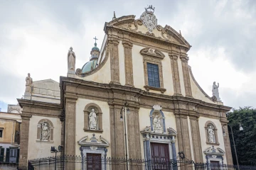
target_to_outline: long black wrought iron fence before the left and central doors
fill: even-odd
[[[80,156],[57,156],[28,161],[28,169],[87,169],[87,170],[147,170],[147,169],[169,169],[178,170],[178,167],[193,167],[192,161],[186,160],[144,160],[144,159],[122,159],[105,157],[80,157]]]

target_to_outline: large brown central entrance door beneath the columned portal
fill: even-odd
[[[169,145],[150,143],[153,169],[169,169]]]

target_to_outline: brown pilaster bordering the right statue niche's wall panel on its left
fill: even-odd
[[[194,154],[194,162],[202,163],[203,162],[203,153],[202,153],[202,145],[201,145],[201,137],[199,131],[198,117],[189,116],[190,124],[191,124],[191,137],[193,142],[193,154]]]

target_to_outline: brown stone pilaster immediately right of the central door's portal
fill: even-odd
[[[191,145],[189,139],[189,130],[188,130],[188,118],[187,113],[182,113],[181,111],[176,111],[176,125],[177,125],[177,134],[178,134],[178,149],[179,151],[183,151],[186,159],[191,160]],[[193,169],[191,165],[183,164],[181,166],[181,170]]]

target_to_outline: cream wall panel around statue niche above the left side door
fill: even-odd
[[[76,116],[76,123],[75,123],[75,141],[78,142],[82,139],[82,137],[88,136],[88,140],[90,141],[90,138],[92,137],[92,134],[94,132],[85,132],[83,130],[84,128],[84,109],[85,106],[88,103],[95,103],[98,106],[100,106],[100,109],[102,110],[102,133],[95,133],[95,137],[97,139],[100,138],[100,135],[107,140],[107,142],[110,142],[110,108],[107,102],[103,101],[94,101],[90,99],[84,99],[84,98],[78,98],[78,101],[76,103],[75,108],[75,116]],[[111,147],[107,147],[107,157],[111,156]],[[75,154],[80,155],[80,145],[76,143],[75,145]]]

